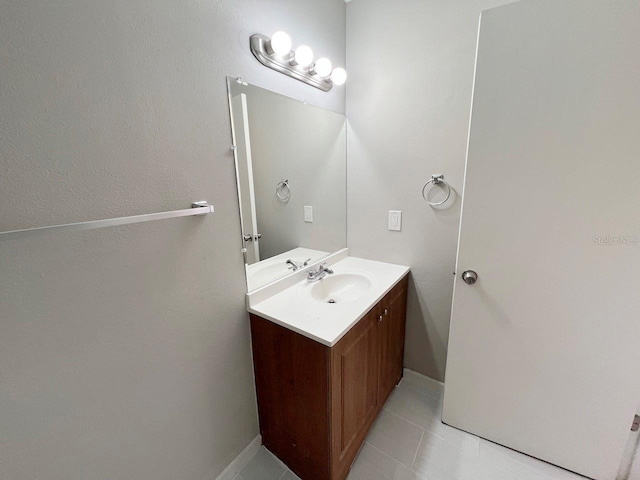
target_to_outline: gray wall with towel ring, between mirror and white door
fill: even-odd
[[[444,379],[460,201],[436,211],[423,184],[462,190],[478,19],[505,0],[355,0],[347,6],[350,254],[410,265],[406,367]],[[402,232],[387,230],[402,210]]]

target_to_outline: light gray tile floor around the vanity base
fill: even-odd
[[[369,432],[348,480],[585,480],[448,427],[440,421],[441,411],[440,392],[405,376]],[[297,478],[263,447],[234,480]]]

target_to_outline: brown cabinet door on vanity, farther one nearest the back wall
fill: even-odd
[[[378,403],[382,405],[402,377],[404,329],[407,314],[407,279],[402,280],[380,302],[378,322],[380,338],[380,388]]]

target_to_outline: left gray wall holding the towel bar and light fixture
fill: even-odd
[[[0,243],[3,479],[213,479],[258,434],[224,77],[343,112],[248,41],[344,65],[344,9],[2,2],[0,230],[216,206]]]

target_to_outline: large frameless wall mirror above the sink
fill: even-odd
[[[247,290],[346,247],[343,115],[227,79]]]

